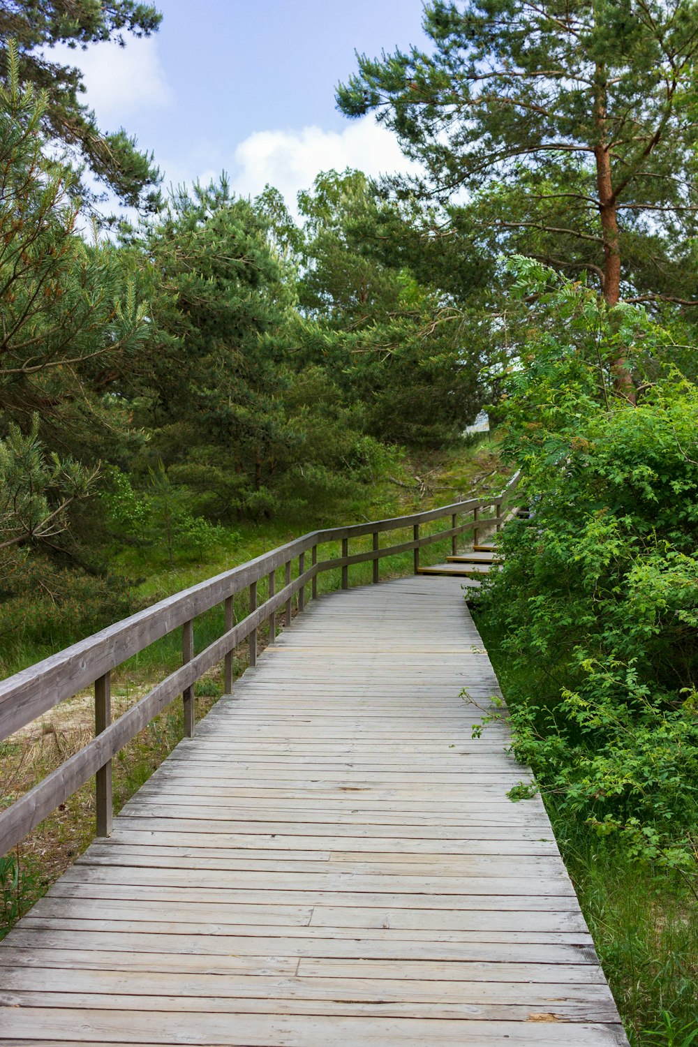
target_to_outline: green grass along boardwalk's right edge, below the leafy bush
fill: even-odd
[[[486,611],[477,627],[504,697],[538,693],[533,670],[514,676]],[[698,877],[631,861],[544,800],[632,1047],[698,1047]]]

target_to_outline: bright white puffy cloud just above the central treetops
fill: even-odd
[[[356,168],[373,177],[414,170],[395,135],[373,116],[347,124],[341,133],[318,127],[255,131],[238,146],[229,170],[232,187],[240,195],[255,196],[269,182],[295,211],[298,191],[310,188],[315,176],[331,168]]]

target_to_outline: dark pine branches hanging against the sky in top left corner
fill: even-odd
[[[62,143],[77,165],[87,164],[99,182],[134,207],[153,207],[157,202],[160,175],[153,156],[140,152],[122,128],[110,134],[99,130],[94,113],[80,101],[85,90],[81,70],[57,62],[50,48],[67,44],[85,49],[108,40],[122,47],[125,34],[148,37],[161,17],[153,5],[134,0],[0,2],[0,77],[9,83],[12,39],[19,47],[20,85],[46,92],[41,113],[45,136]],[[85,184],[81,197],[92,197]]]

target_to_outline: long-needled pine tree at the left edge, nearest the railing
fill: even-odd
[[[42,153],[44,106],[20,89],[10,48],[9,86],[0,85],[0,426],[26,429],[38,411],[49,446],[71,450],[76,415],[94,429],[147,317],[118,250],[75,230],[71,175]]]

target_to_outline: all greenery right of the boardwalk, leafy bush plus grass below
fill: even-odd
[[[530,516],[477,601],[516,756],[533,766],[633,1043],[698,1038],[696,388],[670,333],[519,259],[535,317],[502,454]],[[612,393],[621,347],[635,402]],[[607,361],[605,364],[600,361]],[[531,786],[515,787],[516,800]]]

